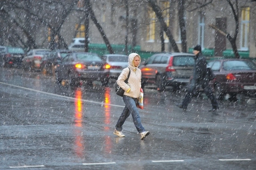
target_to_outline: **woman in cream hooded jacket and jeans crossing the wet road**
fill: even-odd
[[[140,94],[141,89],[141,70],[138,68],[141,62],[141,57],[137,53],[131,53],[128,56],[128,67],[122,70],[122,73],[117,79],[117,84],[123,90],[125,90],[123,101],[125,102],[125,108],[121,116],[119,117],[117,124],[115,125],[114,134],[118,137],[125,137],[122,133],[123,124],[127,117],[133,117],[134,125],[139,132],[140,138],[144,139],[149,135],[149,131],[145,131],[141,124],[141,118],[139,117],[139,111],[136,107],[137,99]],[[128,83],[125,83],[125,80],[129,74],[129,68],[131,70]]]

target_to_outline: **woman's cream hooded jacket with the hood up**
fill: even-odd
[[[122,73],[117,79],[117,84],[123,90],[125,90],[124,95],[138,98],[141,90],[141,70],[138,67],[134,66],[133,60],[138,56],[141,61],[141,57],[137,53],[131,53],[128,56],[128,67],[131,70],[128,84],[125,83],[125,80],[128,77],[129,69],[128,67],[122,70]]]

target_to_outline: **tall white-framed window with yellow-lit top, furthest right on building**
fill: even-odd
[[[242,8],[240,50],[248,50],[250,7]]]

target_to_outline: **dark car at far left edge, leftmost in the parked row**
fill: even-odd
[[[0,46],[0,59],[2,67],[20,67],[25,52],[20,47]]]

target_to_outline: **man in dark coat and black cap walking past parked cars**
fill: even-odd
[[[209,87],[209,80],[207,77],[206,70],[206,58],[202,55],[201,45],[196,45],[194,47],[193,53],[195,54],[195,66],[194,66],[194,74],[191,80],[189,90],[186,93],[186,96],[181,104],[177,104],[179,108],[182,108],[184,111],[187,109],[187,105],[192,99],[193,91],[197,87],[197,85],[201,85],[203,91],[207,95],[207,97],[211,100],[212,109],[209,111],[216,111],[219,109],[216,97],[213,95],[211,88]]]

